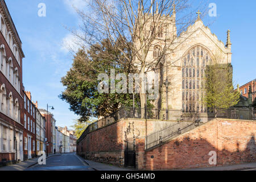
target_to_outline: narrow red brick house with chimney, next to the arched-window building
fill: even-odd
[[[36,156],[36,109],[31,93],[24,92],[24,160]]]

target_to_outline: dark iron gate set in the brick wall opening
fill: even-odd
[[[136,168],[135,140],[125,141],[125,167]]]

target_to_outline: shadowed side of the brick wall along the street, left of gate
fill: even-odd
[[[123,165],[122,122],[113,123],[86,135],[77,146],[77,154],[96,162]]]

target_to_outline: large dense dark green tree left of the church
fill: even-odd
[[[117,44],[121,43],[117,42]],[[106,52],[112,57],[104,57]],[[87,51],[85,48],[79,49],[74,56],[72,68],[66,76],[61,78],[61,82],[66,88],[59,98],[68,102],[69,109],[80,115],[80,122],[87,121],[89,117],[111,114],[122,105],[133,105],[132,94],[99,93],[97,90],[100,83],[97,78],[100,73],[110,75],[110,69],[115,69],[116,74],[125,73],[127,75],[131,72],[128,67],[115,63],[115,58],[122,59],[122,56],[123,53],[117,51],[115,46],[112,46],[106,39],[102,41],[102,44],[95,44]],[[129,52],[126,56],[129,56]],[[135,96],[135,103],[137,104],[138,101],[139,96]]]

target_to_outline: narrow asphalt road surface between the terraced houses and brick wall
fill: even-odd
[[[46,159],[46,165],[36,164],[26,171],[94,171],[76,155],[76,153],[61,154]]]

